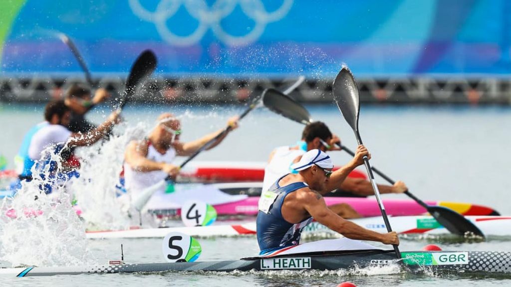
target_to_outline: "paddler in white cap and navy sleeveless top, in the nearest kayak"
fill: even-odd
[[[375,249],[355,241],[376,241],[399,245],[396,232],[378,233],[347,221],[334,213],[325,203],[321,192],[327,183],[341,184],[347,175],[370,158],[364,146],[359,146],[355,157],[341,169],[334,167],[330,157],[317,149],[301,156],[291,167],[298,174],[282,176],[263,194],[257,216],[257,238],[261,255],[293,254],[301,252]],[[299,244],[300,233],[312,220],[336,231],[346,238]],[[350,238],[350,239],[348,239]]]

